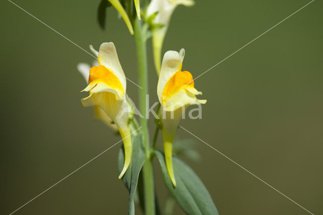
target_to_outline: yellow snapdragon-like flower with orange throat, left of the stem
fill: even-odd
[[[82,98],[81,101],[83,106],[98,106],[96,114],[99,118],[107,117],[105,118],[107,122],[112,120],[117,126],[125,149],[125,163],[119,176],[122,178],[129,167],[132,154],[129,126],[132,107],[127,101],[126,77],[113,42],[102,43],[99,51],[94,50],[92,46],[90,49],[97,56],[99,66],[93,66],[90,69],[88,86],[82,90],[88,91],[90,95]]]

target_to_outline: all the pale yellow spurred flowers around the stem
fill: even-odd
[[[129,30],[133,33],[132,25],[127,13],[118,0],[109,0],[120,12]],[[137,16],[140,19],[139,0],[134,0]],[[199,100],[196,95],[202,94],[194,88],[194,80],[190,72],[182,71],[185,50],[179,52],[170,50],[164,55],[160,64],[160,52],[163,40],[175,8],[183,4],[191,6],[192,0],[152,0],[147,8],[145,17],[150,20],[153,41],[154,62],[157,74],[157,96],[161,109],[158,113],[159,126],[163,133],[166,166],[171,181],[176,186],[173,170],[172,149],[177,127],[183,112],[190,104],[204,104],[206,100]],[[159,27],[156,27],[158,25]],[[79,64],[78,69],[88,85],[82,91],[89,95],[82,98],[83,106],[93,106],[97,119],[107,126],[119,131],[124,144],[124,167],[119,175],[126,173],[132,157],[131,133],[133,129],[134,106],[129,101],[126,92],[126,77],[119,62],[117,50],[113,42],[104,42],[99,51],[90,46],[98,62],[93,66]],[[140,115],[141,116],[141,115]]]

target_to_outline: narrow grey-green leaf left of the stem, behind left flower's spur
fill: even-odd
[[[121,147],[118,156],[119,173],[122,171],[125,160],[124,150]],[[142,142],[142,135],[132,135],[132,157],[127,172],[122,177],[122,181],[129,190],[129,208],[128,214],[135,214],[135,194],[138,185],[138,177],[143,163],[145,162],[145,152]]]

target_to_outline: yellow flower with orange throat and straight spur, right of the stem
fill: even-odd
[[[182,71],[184,55],[183,48],[180,52],[167,51],[165,53],[157,85],[157,95],[162,107],[159,116],[164,138],[166,166],[174,186],[176,186],[176,181],[173,171],[172,149],[176,129],[187,106],[206,103],[206,100],[196,98],[196,95],[202,93],[194,88],[191,73]]]

